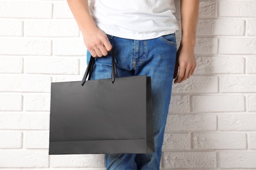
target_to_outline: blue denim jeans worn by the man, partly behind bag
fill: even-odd
[[[151,76],[155,152],[152,154],[106,154],[106,169],[160,169],[161,148],[171,101],[177,52],[175,33],[148,40],[107,36],[114,49],[119,77]],[[91,79],[111,77],[110,55],[111,53],[95,59],[95,70]],[[91,54],[87,51],[87,63],[90,56]]]

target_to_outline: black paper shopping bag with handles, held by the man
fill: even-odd
[[[90,80],[94,63],[82,81],[51,84],[49,154],[154,152],[150,77],[118,78],[112,55],[112,78]]]

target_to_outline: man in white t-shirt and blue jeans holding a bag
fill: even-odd
[[[87,46],[95,57],[93,79],[110,78],[114,49],[119,76],[152,78],[153,154],[106,154],[106,169],[160,169],[161,147],[171,88],[196,68],[194,46],[199,0],[181,0],[182,39],[177,51],[174,0],[67,0]],[[178,74],[179,69],[179,74]]]

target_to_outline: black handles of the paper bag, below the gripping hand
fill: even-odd
[[[87,65],[87,69],[85,71],[85,75],[83,75],[83,80],[81,83],[82,86],[85,84],[87,76],[89,76],[88,80],[91,80],[91,75],[93,74],[94,65],[95,65],[95,58],[91,56],[89,64]],[[118,77],[118,73],[117,73],[116,61],[115,61],[114,52],[112,49],[112,74],[111,74],[112,83],[115,82],[117,77]]]

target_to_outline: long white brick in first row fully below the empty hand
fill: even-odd
[[[245,110],[244,95],[194,95],[193,112],[232,112]]]

